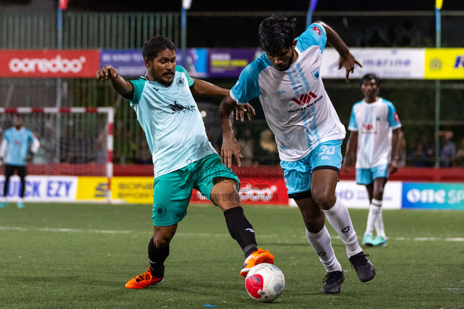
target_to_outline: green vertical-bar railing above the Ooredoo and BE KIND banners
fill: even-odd
[[[0,14],[0,49],[57,48],[56,14]],[[180,44],[180,13],[63,14],[63,48],[135,49],[155,35]]]

